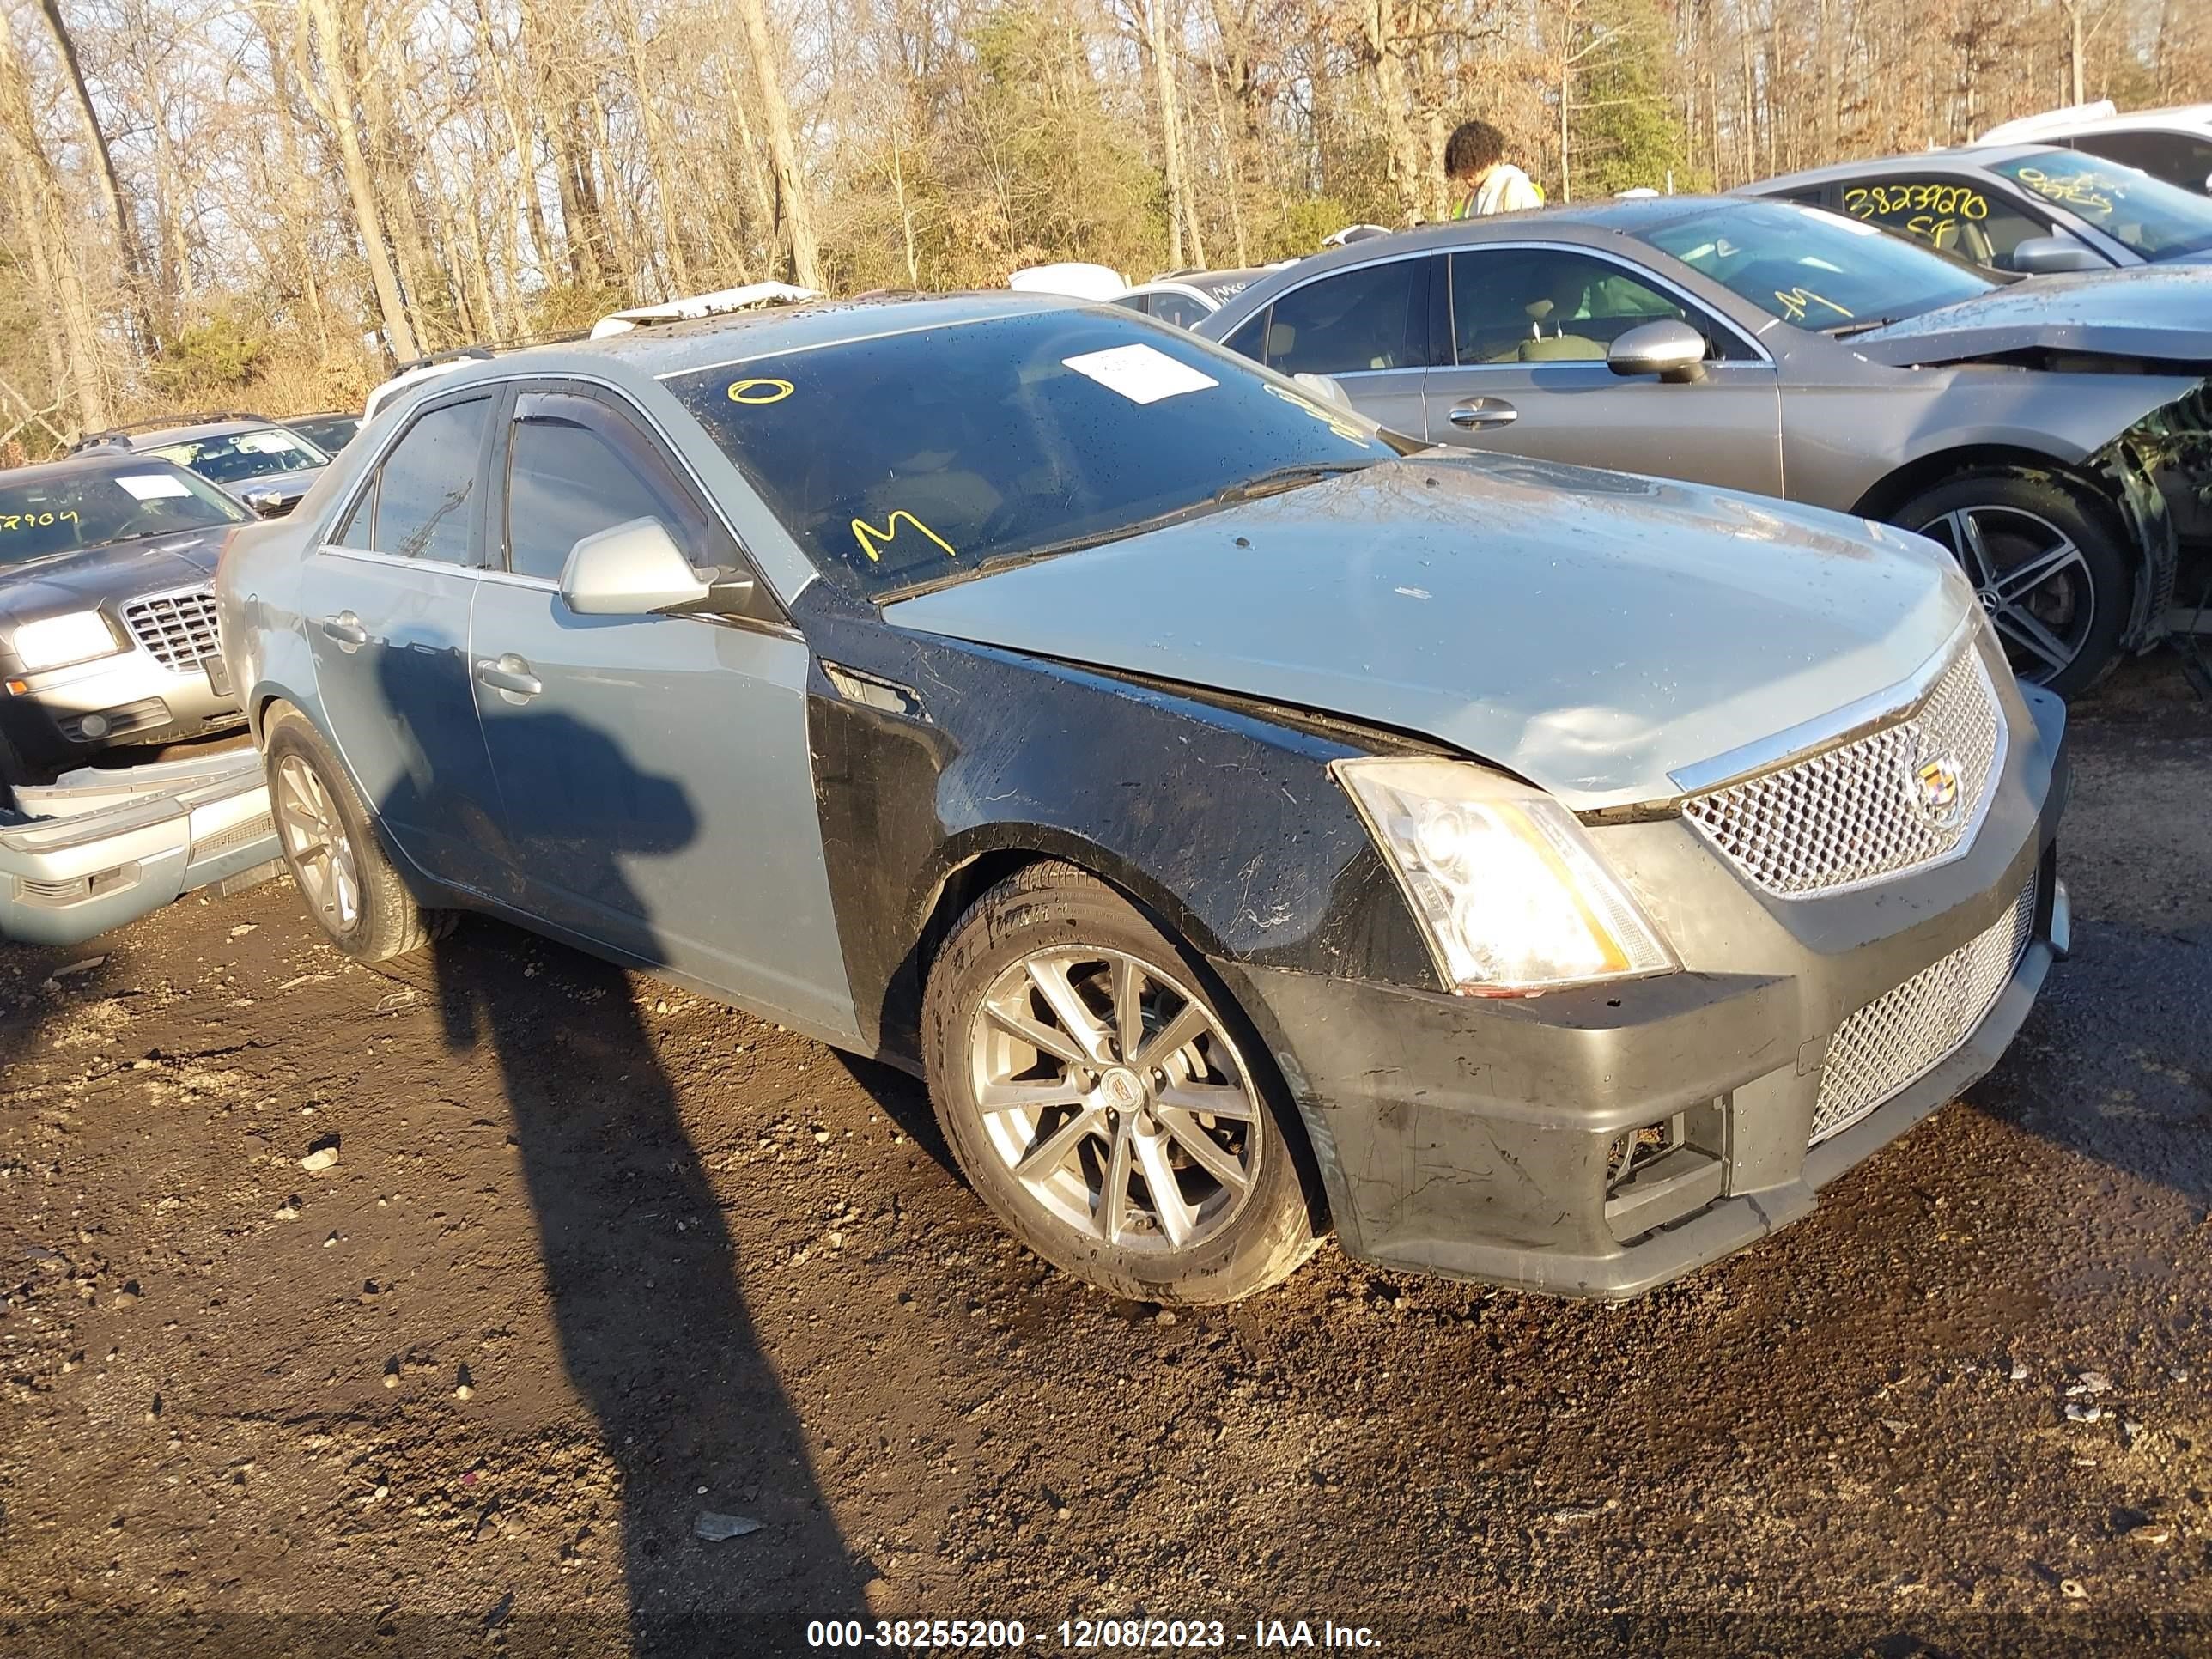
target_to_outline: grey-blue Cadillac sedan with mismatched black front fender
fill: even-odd
[[[922,1075],[1126,1296],[1630,1296],[1982,1075],[2064,708],[1865,520],[1402,440],[1037,296],[456,369],[217,577],[361,960],[489,911]]]

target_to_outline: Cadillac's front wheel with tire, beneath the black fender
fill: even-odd
[[[978,898],[931,964],[922,1031],[953,1157],[1055,1267],[1203,1305],[1314,1252],[1305,1144],[1265,1051],[1106,883],[1044,863]]]

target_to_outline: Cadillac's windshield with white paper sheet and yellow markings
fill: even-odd
[[[1394,453],[1365,418],[1121,310],[920,327],[668,387],[865,599]]]

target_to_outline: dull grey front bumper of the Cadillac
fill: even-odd
[[[1989,816],[1924,872],[1778,900],[1679,818],[1595,832],[1661,929],[1692,942],[1679,973],[1484,1000],[1217,960],[1290,1084],[1343,1248],[1637,1296],[1807,1214],[1823,1186],[1986,1073],[2068,929],[2055,847],[2066,712],[2022,695]],[[2008,971],[1980,958],[1989,1002],[1962,1040],[1814,1141],[1838,1033],[1863,1044],[1876,1026],[1856,1015],[1871,1004],[1893,1009],[1891,993],[1951,982],[2015,940]],[[1608,1179],[1632,1135],[1666,1150]]]

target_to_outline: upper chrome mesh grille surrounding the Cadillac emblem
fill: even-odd
[[[1920,770],[1958,774],[1955,810],[1924,803]],[[1905,719],[1743,783],[1683,801],[1683,816],[1750,880],[1783,898],[1863,887],[1960,852],[2004,770],[2004,710],[1969,644]]]

